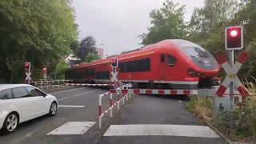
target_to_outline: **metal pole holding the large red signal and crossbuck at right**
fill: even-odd
[[[234,66],[234,50],[229,50],[229,62],[230,66]],[[230,83],[230,112],[234,112],[234,84],[233,82]],[[230,128],[234,129],[234,118],[230,117]]]

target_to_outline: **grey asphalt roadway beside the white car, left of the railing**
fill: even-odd
[[[47,136],[46,134],[58,128],[58,126],[62,126],[66,122],[70,121],[95,122],[97,120],[96,118],[98,118],[98,94],[105,93],[106,91],[107,90],[100,90],[97,88],[77,87],[74,89],[60,90],[50,93],[58,98],[58,105],[60,106],[58,107],[58,113],[54,117],[43,116],[20,124],[14,133],[0,135],[0,143],[73,143],[73,141],[70,140],[70,137],[77,139],[77,136],[66,137],[66,135],[64,135],[60,137],[53,136],[53,138],[51,138],[51,136]],[[108,103],[106,102],[106,104]]]

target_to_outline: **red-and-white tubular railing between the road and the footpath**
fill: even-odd
[[[127,90],[130,87],[132,87],[132,85],[130,83],[128,83],[124,86],[118,87],[117,90]],[[102,113],[102,97],[104,97],[106,95],[110,95],[110,107]],[[120,98],[120,94],[117,94],[117,102],[115,102],[113,104],[113,94],[110,93],[110,91],[108,91],[104,94],[99,94],[98,95],[98,124],[99,124],[99,129],[102,128],[102,117],[107,112],[110,111],[110,118],[112,118],[114,106],[118,106],[118,110],[120,110],[120,102],[122,101],[122,105],[124,105],[125,104],[125,98],[126,98],[126,101],[128,101],[128,98],[130,98],[130,96],[131,96],[131,94],[122,94],[122,98]]]

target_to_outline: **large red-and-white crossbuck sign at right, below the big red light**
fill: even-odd
[[[222,65],[223,69],[226,71],[226,78],[222,82],[221,86],[219,86],[218,90],[216,91],[216,94],[218,96],[223,96],[226,89],[230,86],[230,83],[233,82],[234,86],[237,87],[240,94],[244,96],[249,95],[249,91],[246,90],[246,88],[242,85],[242,82],[237,76],[238,70],[241,68],[242,64],[246,62],[246,59],[249,57],[249,54],[246,52],[242,52],[242,54],[239,55],[237,61],[234,63],[234,66],[231,67],[230,64],[226,61],[226,58],[223,54],[217,54],[216,59],[220,65]]]

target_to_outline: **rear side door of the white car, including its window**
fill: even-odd
[[[36,98],[30,97],[25,87],[12,88],[13,102],[17,106],[20,119],[23,121],[34,118],[37,112],[37,106],[34,105]]]

